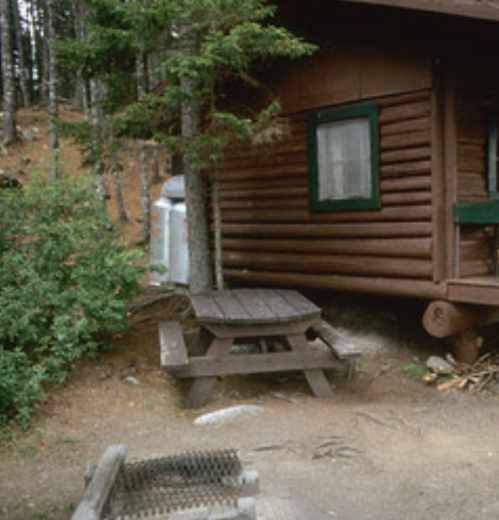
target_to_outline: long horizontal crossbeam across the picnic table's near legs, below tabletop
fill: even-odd
[[[307,347],[308,349],[308,347]],[[264,374],[296,370],[344,368],[331,352],[273,352],[237,356],[192,357],[188,367],[175,373],[179,378],[227,376],[234,374]]]

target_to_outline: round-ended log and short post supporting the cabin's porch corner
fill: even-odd
[[[499,307],[453,303],[446,300],[430,302],[423,315],[423,326],[431,336],[447,339],[455,359],[473,364],[479,358],[482,344],[479,327],[499,321]]]

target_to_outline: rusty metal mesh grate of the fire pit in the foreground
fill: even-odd
[[[161,515],[202,506],[235,505],[242,487],[235,450],[194,452],[123,464],[105,520]]]

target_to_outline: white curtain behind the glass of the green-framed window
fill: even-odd
[[[317,127],[319,200],[371,197],[369,119]]]

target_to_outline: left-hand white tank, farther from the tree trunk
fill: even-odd
[[[151,273],[149,285],[161,285],[170,279],[170,214],[173,204],[161,197],[151,207],[151,265],[162,265],[163,274]]]

